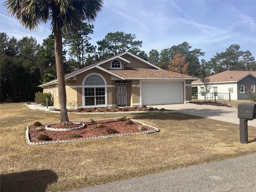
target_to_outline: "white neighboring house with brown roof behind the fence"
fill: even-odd
[[[224,71],[210,78],[210,93],[208,99],[214,99],[214,92],[217,92],[217,99],[241,100],[248,99],[250,94],[256,91],[256,71]],[[192,82],[192,87],[197,87],[197,99],[204,99],[204,84],[199,79]]]

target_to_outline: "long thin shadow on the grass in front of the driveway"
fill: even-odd
[[[188,120],[188,119],[203,119],[204,117],[199,117],[195,115],[188,115],[182,113],[143,113],[134,114],[135,119],[158,119],[158,120]]]

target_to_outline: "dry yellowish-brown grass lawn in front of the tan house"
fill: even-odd
[[[256,129],[239,143],[238,125],[185,114],[133,114],[160,132],[130,137],[28,146],[25,127],[58,122],[59,114],[1,107],[1,191],[63,191],[256,152]],[[71,121],[115,115],[70,114]]]

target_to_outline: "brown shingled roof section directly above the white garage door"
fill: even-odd
[[[198,79],[197,77],[175,73],[173,71],[148,69],[148,68],[125,68],[124,70],[109,70],[124,78],[187,78]]]

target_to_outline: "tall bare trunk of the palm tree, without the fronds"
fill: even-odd
[[[56,61],[57,79],[58,79],[60,123],[70,124],[68,120],[68,113],[67,113],[67,95],[66,95],[66,87],[65,87],[61,31],[54,31],[54,51],[55,51],[55,61]]]

